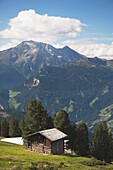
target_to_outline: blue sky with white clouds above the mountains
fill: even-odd
[[[0,51],[27,40],[113,59],[113,0],[0,0]]]

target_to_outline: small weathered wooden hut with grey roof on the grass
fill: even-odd
[[[55,155],[64,154],[64,139],[67,135],[56,128],[42,130],[27,137],[30,150]]]

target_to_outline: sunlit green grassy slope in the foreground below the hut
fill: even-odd
[[[68,157],[68,156],[54,156],[42,155],[35,152],[28,151],[23,146],[0,142],[0,170],[27,170],[32,162],[48,162],[52,165],[60,165],[64,163],[61,170],[112,170],[113,165],[88,167],[82,165],[82,161],[87,161],[89,158],[83,157]]]

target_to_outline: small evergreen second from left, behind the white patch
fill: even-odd
[[[20,136],[19,123],[15,117],[12,117],[9,121],[9,136],[10,137]]]

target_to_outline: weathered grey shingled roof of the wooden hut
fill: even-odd
[[[58,130],[56,128],[42,130],[42,131],[28,135],[28,137],[36,135],[36,134],[41,134],[42,136],[46,137],[50,141],[56,141],[56,140],[63,139],[65,137],[67,137],[67,135],[65,133],[61,132],[60,130]]]

